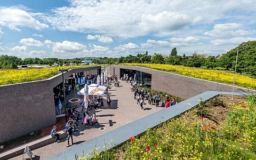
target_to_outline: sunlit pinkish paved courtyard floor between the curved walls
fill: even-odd
[[[113,84],[110,87],[111,89],[109,89],[109,95],[111,98],[111,109],[98,109],[96,111],[92,110],[89,113],[96,114],[100,123],[100,127],[104,127],[104,130],[102,131],[99,128],[92,129],[91,127],[89,127],[89,129],[84,127],[84,131],[83,129],[80,129],[76,133],[77,136],[74,137],[75,145],[86,140],[98,137],[103,133],[114,130],[120,126],[131,123],[137,119],[146,117],[150,114],[155,113],[158,110],[163,109],[162,107],[155,107],[154,105],[150,106],[147,101],[145,101],[147,104],[143,107],[146,108],[146,110],[141,110],[140,105],[137,105],[137,101],[133,98],[134,95],[133,92],[131,92],[130,83],[122,81],[119,87],[114,87]],[[72,93],[67,96],[67,100],[69,100],[70,96],[72,96]],[[79,96],[77,98],[81,100],[83,99]],[[103,98],[106,99],[106,96],[104,96]],[[106,106],[106,100],[104,102]],[[79,109],[82,109],[82,107]],[[79,122],[79,124],[81,125],[81,122]],[[65,126],[65,124],[63,124],[63,126]],[[39,159],[44,159],[68,149],[66,146],[67,141],[65,139],[61,139],[60,143],[58,144],[52,143],[50,145],[46,145],[41,148],[32,150],[32,152],[34,155],[39,156]],[[13,157],[11,159],[22,159],[22,155]]]

